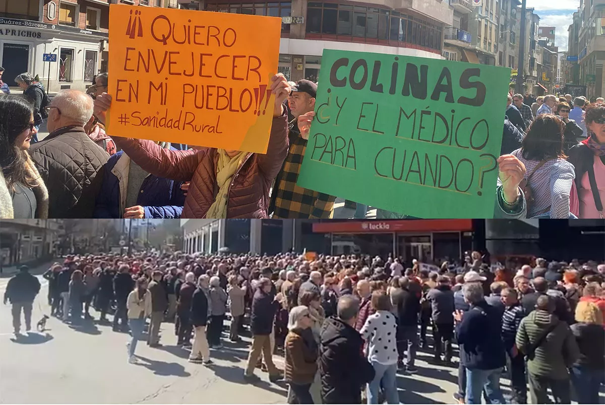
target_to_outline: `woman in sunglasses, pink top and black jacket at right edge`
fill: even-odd
[[[569,150],[575,167],[579,218],[605,219],[605,103],[591,104],[584,115],[589,137]]]

